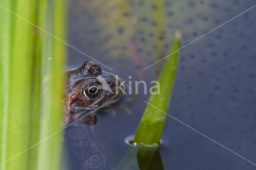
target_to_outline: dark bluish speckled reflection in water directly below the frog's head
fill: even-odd
[[[93,116],[88,116],[66,128],[65,144],[68,146],[72,170],[114,170],[95,144],[94,120]]]

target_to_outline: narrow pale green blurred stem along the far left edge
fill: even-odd
[[[0,4],[10,8],[10,1],[0,0]],[[8,88],[9,88],[9,59],[10,59],[10,13],[0,9],[0,162],[6,160],[7,120],[8,120]],[[0,166],[5,170],[6,166]]]

